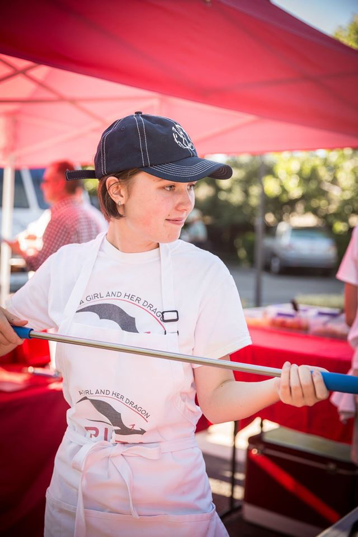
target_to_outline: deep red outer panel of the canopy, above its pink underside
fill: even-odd
[[[358,53],[269,0],[12,0],[0,52],[356,144]]]

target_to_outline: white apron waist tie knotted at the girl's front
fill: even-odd
[[[159,459],[162,453],[197,447],[195,436],[147,444],[114,444],[106,440],[93,442],[90,438],[82,436],[80,433],[68,428],[65,438],[82,446],[72,460],[72,467],[81,472],[76,510],[75,537],[84,536],[86,533],[83,481],[90,464],[94,464],[104,458],[109,459],[109,464],[114,466],[126,484],[132,516],[139,518],[132,501],[133,475],[126,457],[144,457],[154,460]]]

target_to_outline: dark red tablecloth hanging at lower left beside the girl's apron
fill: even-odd
[[[1,379],[1,376],[0,376]],[[45,491],[66,428],[62,383],[34,377],[18,392],[0,392],[0,534],[43,534]]]

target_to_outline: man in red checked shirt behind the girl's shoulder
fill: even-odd
[[[108,227],[102,214],[83,200],[82,181],[66,181],[66,170],[74,169],[66,160],[46,168],[41,189],[51,209],[14,241],[6,241],[24,258],[28,270],[37,270],[61,246],[88,242]]]

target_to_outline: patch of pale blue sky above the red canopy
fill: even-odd
[[[337,26],[346,26],[358,14],[358,0],[271,0],[298,19],[332,35]]]

